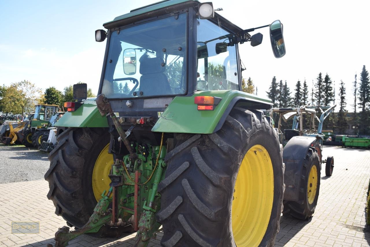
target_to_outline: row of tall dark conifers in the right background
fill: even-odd
[[[369,83],[369,72],[366,70],[366,66],[363,65],[360,82],[357,82],[357,74],[354,76],[353,83],[353,96],[354,104],[351,105],[354,108],[354,113],[351,116],[351,121],[357,126],[357,134],[369,135],[370,134],[370,83]],[[326,73],[323,77],[320,72],[316,81],[312,81],[312,90],[308,89],[306,79],[303,84],[300,80],[297,81],[295,89],[290,92],[290,88],[287,86],[286,81],[283,83],[282,80],[278,83],[276,77],[272,78],[272,82],[269,87],[269,91],[266,91],[267,97],[272,100],[274,107],[279,108],[290,108],[300,107],[305,105],[334,105],[335,104],[335,85]],[[339,87],[339,111],[337,114],[331,114],[324,121],[324,129],[333,129],[338,133],[344,133],[347,129],[349,120],[348,111],[346,110],[346,87],[344,82],[340,80]],[[337,109],[338,109],[337,106]],[[360,111],[357,112],[357,109]]]

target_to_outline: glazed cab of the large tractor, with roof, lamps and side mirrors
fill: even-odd
[[[219,15],[212,3],[162,1],[103,26],[107,30],[95,31],[96,41],[107,38],[98,94],[110,100],[118,116],[145,117],[153,124],[176,96],[241,91],[238,47],[247,42],[259,45],[263,37],[251,31],[270,27],[273,54],[277,58],[285,55],[279,20],[244,30]]]

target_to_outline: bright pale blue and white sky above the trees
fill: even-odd
[[[142,1],[6,1],[0,0],[0,84],[28,80],[43,90],[63,90],[79,81],[98,91],[106,41],[95,42],[95,30],[130,10],[154,3]],[[227,4],[226,4],[227,3]],[[370,69],[370,1],[213,1],[219,14],[243,29],[280,20],[284,26],[286,55],[275,58],[269,29],[257,47],[239,46],[258,95],[266,97],[272,77],[287,81],[294,91],[297,80],[309,89],[319,72],[346,85],[347,109],[353,104],[354,75],[363,65]],[[336,108],[337,110],[339,107]]]

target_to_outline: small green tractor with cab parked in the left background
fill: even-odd
[[[53,119],[58,109],[58,105],[36,105],[33,119],[27,120],[24,128],[16,132],[18,140],[26,147],[38,148],[42,143],[42,135],[49,132],[47,128],[51,125],[50,119]]]

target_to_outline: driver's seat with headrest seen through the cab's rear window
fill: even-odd
[[[159,57],[140,61],[140,87],[142,96],[172,94],[167,76],[164,74],[164,61]]]

